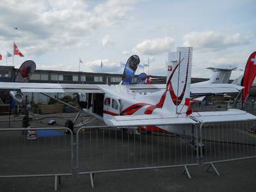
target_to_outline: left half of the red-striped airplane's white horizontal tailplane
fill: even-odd
[[[140,126],[140,125],[170,125],[170,124],[196,124],[188,116],[180,115],[123,115],[109,118],[108,125],[111,126]]]

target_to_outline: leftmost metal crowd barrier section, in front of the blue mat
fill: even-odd
[[[36,139],[28,138],[31,130]],[[0,179],[54,177],[57,190],[60,177],[72,175],[72,143],[73,133],[65,127],[0,129]]]

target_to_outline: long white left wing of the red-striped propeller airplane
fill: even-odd
[[[0,82],[0,89],[20,90],[21,92],[43,93],[103,93],[100,86],[97,84]]]

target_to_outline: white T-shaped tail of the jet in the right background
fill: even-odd
[[[228,83],[232,70],[236,70],[237,67],[208,67],[207,69],[214,72],[208,83]]]

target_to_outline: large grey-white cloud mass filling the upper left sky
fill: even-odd
[[[89,6],[83,0],[0,2],[0,51],[15,41],[26,55],[86,47],[90,33],[127,19],[136,1],[108,0]],[[13,27],[17,27],[15,30]],[[89,42],[89,43],[88,43]]]

